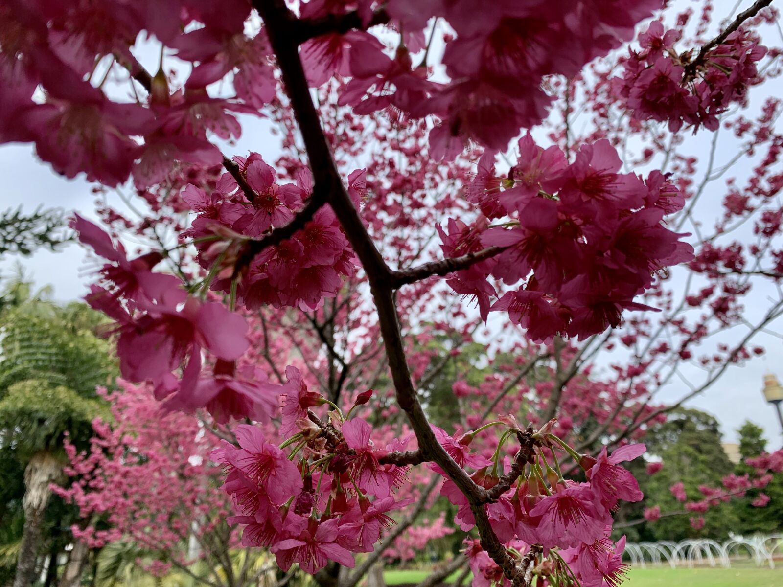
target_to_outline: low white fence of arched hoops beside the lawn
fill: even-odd
[[[630,542],[626,555],[633,565],[647,567],[668,564],[669,567],[731,567],[731,562],[751,560],[756,567],[775,567],[774,557],[783,557],[783,534],[731,538],[720,544],[709,538],[694,538],[682,542]]]

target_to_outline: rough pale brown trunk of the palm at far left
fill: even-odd
[[[60,461],[49,452],[37,452],[30,459],[30,463],[27,463],[22,498],[24,528],[13,587],[30,587],[35,580],[35,562],[38,559],[38,548],[41,546],[41,524],[52,495],[49,484],[56,483],[62,475]]]

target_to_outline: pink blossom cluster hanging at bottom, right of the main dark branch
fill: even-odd
[[[515,425],[511,418],[501,420]],[[588,587],[604,585],[604,581],[616,585],[626,571],[626,565],[622,563],[625,538],[616,544],[610,540],[610,512],[620,500],[637,502],[642,499],[636,479],[619,463],[640,456],[644,445],[626,445],[611,455],[603,448],[597,459],[579,456],[565,442],[544,431],[550,426],[551,423],[539,430],[539,434],[543,433],[542,441],[535,452],[528,455],[529,473],[525,469],[507,491],[493,495],[492,502],[483,506],[489,523],[517,563],[534,552],[534,545],[543,548],[548,555],[536,568],[545,577],[554,577],[560,582],[576,576]],[[500,445],[504,438],[513,438],[514,428],[511,430],[511,434],[501,435]],[[471,475],[476,484],[492,490],[503,482],[504,467],[497,456],[500,448],[494,462],[484,462],[486,459],[471,454],[470,438],[471,434],[466,434],[450,441],[439,436],[438,440],[457,463],[470,463],[476,469]],[[563,479],[557,457],[561,450],[582,466],[586,482]],[[441,493],[459,507],[455,520],[460,528],[469,531],[474,525],[474,516],[467,499],[449,480],[444,482]],[[474,585],[510,584],[503,569],[478,541],[467,540],[466,554],[474,573]]]

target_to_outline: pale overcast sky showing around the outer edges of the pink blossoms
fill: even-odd
[[[720,6],[720,2],[718,5]],[[774,81],[778,86],[780,81]],[[780,89],[780,88],[779,88]],[[247,122],[247,119],[244,120]],[[706,136],[705,136],[706,135]],[[726,135],[730,139],[730,135]],[[709,133],[702,132],[695,140],[694,153],[705,153],[709,146]],[[244,135],[238,144],[225,149],[224,153],[247,153],[249,149],[258,150],[266,160],[274,160],[279,152],[277,140],[269,135],[269,127],[264,121],[252,121],[244,127]],[[728,140],[721,146],[719,160],[730,159],[736,147]],[[742,170],[740,170],[742,171]],[[740,173],[739,175],[742,175]],[[718,184],[716,184],[718,185]],[[116,205],[124,208],[116,195],[110,193],[110,198],[117,199]],[[714,218],[714,207],[719,205],[723,193],[705,204],[710,218]],[[112,201],[112,200],[110,200]],[[52,172],[48,164],[42,164],[35,156],[32,146],[2,145],[0,146],[0,209],[21,206],[23,211],[31,212],[38,206],[60,207],[65,211],[78,211],[88,218],[95,218],[95,196],[91,186],[83,178],[67,180]],[[6,257],[0,261],[0,275],[6,277],[13,271],[15,263],[21,263],[28,276],[34,279],[37,286],[51,284],[59,301],[75,300],[83,296],[91,282],[90,272],[95,267],[88,262],[85,251],[78,245],[70,244],[60,251],[52,253],[40,250],[27,258]],[[766,304],[763,290],[755,291],[758,308]],[[749,312],[752,312],[753,297],[749,299]],[[778,325],[783,326],[783,325]],[[777,330],[783,330],[778,328]],[[772,406],[764,402],[761,389],[763,374],[777,372],[783,378],[783,348],[781,339],[761,335],[754,340],[767,348],[763,357],[753,358],[740,368],[728,369],[723,377],[701,397],[695,398],[689,405],[703,409],[720,420],[723,436],[726,441],[736,441],[736,429],[745,420],[752,420],[766,431],[770,441],[768,448],[779,448],[781,440],[780,425]],[[673,401],[687,393],[683,385],[670,386],[669,391],[662,394],[662,401]]]

